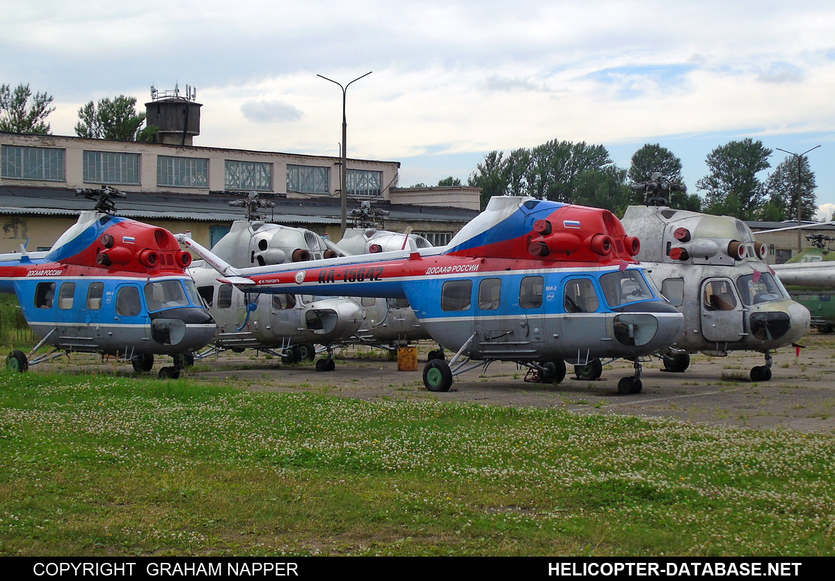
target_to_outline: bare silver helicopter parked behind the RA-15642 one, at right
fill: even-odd
[[[633,189],[645,192],[645,205],[630,206],[621,221],[642,241],[636,258],[685,316],[684,333],[659,352],[665,370],[685,371],[696,351],[759,351],[765,365],[751,369],[751,381],[771,379],[772,351],[800,339],[810,316],[763,261],[766,246],[736,218],[670,208],[663,195],[683,186],[660,173]]]

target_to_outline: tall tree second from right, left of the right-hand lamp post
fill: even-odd
[[[706,159],[711,174],[696,182],[696,189],[706,193],[704,210],[708,214],[757,220],[766,197],[765,186],[757,174],[771,167],[771,154],[772,150],[763,147],[762,141],[750,138],[731,141],[711,151]]]

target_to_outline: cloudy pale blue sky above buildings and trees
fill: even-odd
[[[0,0],[0,83],[53,95],[53,134],[89,100],[190,84],[195,144],[402,163],[400,185],[468,174],[493,149],[645,143],[687,186],[734,139],[810,154],[835,209],[835,3]],[[785,154],[776,151],[772,166]],[[767,172],[763,172],[765,179]]]

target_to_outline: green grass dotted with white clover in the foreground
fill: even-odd
[[[0,554],[832,554],[833,443],[3,374]]]

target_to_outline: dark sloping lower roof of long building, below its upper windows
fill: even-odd
[[[264,210],[267,220],[287,225],[339,224],[342,205],[339,198],[268,197],[276,207]],[[117,200],[117,214],[138,220],[192,220],[230,222],[242,220],[244,209],[230,206],[240,195],[229,192],[205,194],[180,194],[161,192],[129,192],[127,200]],[[359,205],[348,200],[348,208]],[[387,220],[403,222],[460,223],[472,220],[478,212],[463,208],[391,204],[385,200],[373,205],[387,210]],[[93,203],[76,195],[74,189],[0,187],[0,215],[75,216],[81,210],[91,210]]]

